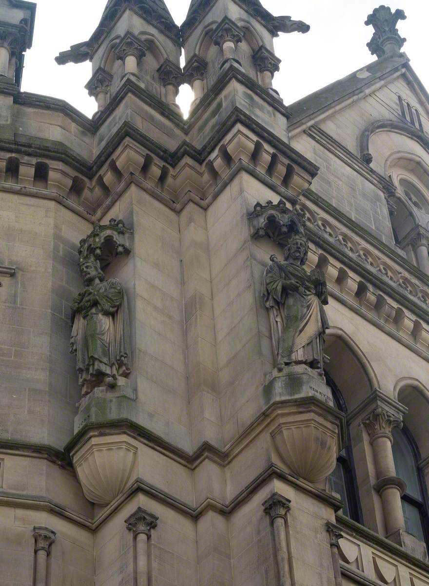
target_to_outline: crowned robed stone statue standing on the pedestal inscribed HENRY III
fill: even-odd
[[[322,374],[324,335],[329,328],[323,307],[328,304],[327,285],[322,271],[303,267],[307,255],[307,239],[294,234],[284,248],[284,261],[271,257],[262,296],[270,314],[277,369],[306,364]]]

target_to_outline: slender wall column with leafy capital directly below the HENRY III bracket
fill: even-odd
[[[290,509],[290,500],[277,493],[262,503],[264,512],[271,517],[276,546],[277,567],[279,568],[280,586],[290,586],[289,553],[287,548],[286,518]]]

